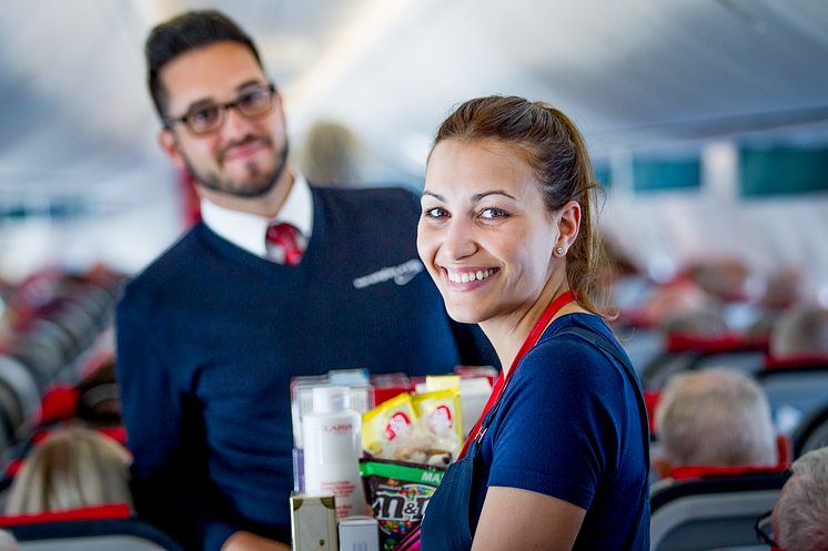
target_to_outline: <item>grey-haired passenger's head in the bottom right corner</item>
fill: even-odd
[[[774,508],[774,534],[786,551],[828,551],[828,448],[797,459]]]

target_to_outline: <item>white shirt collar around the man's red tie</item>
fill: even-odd
[[[273,220],[256,214],[232,211],[206,198],[201,200],[201,218],[204,224],[228,239],[256,256],[266,257],[264,234],[267,226],[274,222],[293,224],[305,239],[311,239],[313,232],[313,196],[307,180],[299,173],[293,173],[293,187],[285,198],[284,205]]]

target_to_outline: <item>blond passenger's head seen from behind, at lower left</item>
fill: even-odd
[[[72,427],[34,447],[12,481],[8,514],[128,503],[130,455],[94,430]]]

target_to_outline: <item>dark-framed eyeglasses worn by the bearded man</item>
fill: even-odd
[[[261,84],[248,88],[239,98],[226,103],[200,105],[182,116],[164,119],[168,129],[175,123],[183,123],[195,135],[205,135],[221,129],[229,109],[235,109],[249,120],[259,119],[273,109],[273,95],[276,86]]]

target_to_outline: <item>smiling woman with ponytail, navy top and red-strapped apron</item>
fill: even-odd
[[[646,409],[600,316],[594,196],[579,132],[547,104],[472,100],[437,132],[417,248],[504,371],[432,498],[423,549],[649,548]]]

